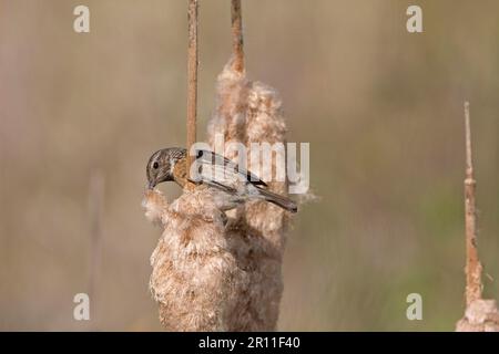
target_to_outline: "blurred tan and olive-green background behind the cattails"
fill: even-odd
[[[91,32],[73,32],[73,9]],[[424,33],[406,31],[419,4]],[[249,79],[310,143],[279,330],[451,331],[464,313],[464,113],[479,251],[499,278],[499,2],[243,0]],[[230,1],[200,8],[198,137],[231,52]],[[0,0],[0,330],[161,330],[147,291],[161,230],[145,164],[184,145],[186,1]],[[98,173],[92,173],[98,171]],[[105,179],[94,277],[89,185]],[[170,198],[175,186],[163,187]],[[73,320],[89,292],[91,319]],[[498,281],[485,279],[498,298]],[[422,295],[422,321],[406,296]]]

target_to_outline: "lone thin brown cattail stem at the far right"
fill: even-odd
[[[469,102],[465,102],[466,123],[466,179],[465,179],[465,222],[466,222],[466,303],[481,299],[481,264],[477,250],[476,201],[477,181],[473,177],[471,156],[471,128]]]

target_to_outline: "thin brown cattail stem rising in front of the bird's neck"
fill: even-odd
[[[197,115],[197,0],[189,0],[187,10],[189,44],[187,44],[187,152],[196,142]],[[187,154],[187,170],[191,170],[193,156]],[[193,184],[187,184],[192,189]]]

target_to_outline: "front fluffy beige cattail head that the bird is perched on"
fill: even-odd
[[[245,282],[224,237],[222,212],[207,189],[169,205],[147,191],[146,216],[164,231],[151,256],[150,289],[170,331],[227,331],[237,288]]]

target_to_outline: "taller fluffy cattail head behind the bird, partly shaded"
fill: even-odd
[[[231,60],[217,79],[217,106],[210,122],[208,136],[212,146],[215,135],[223,134],[225,156],[236,160],[234,150],[227,149],[231,142],[243,143],[249,152],[251,143],[285,143],[286,124],[282,102],[277,92],[261,82],[248,81]],[[246,156],[249,170],[252,166]],[[273,159],[271,170],[276,169]],[[268,189],[285,196],[287,184],[268,181]],[[238,312],[234,323],[238,330],[275,330],[281,295],[282,259],[289,215],[269,202],[251,201],[232,215],[233,226],[227,236],[237,251],[240,262],[251,269],[249,288],[238,298]]]

